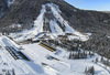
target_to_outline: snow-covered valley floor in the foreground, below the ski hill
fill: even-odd
[[[97,57],[100,58],[98,54],[94,57],[87,60],[68,60],[68,52],[58,49],[59,54],[51,52],[45,47],[38,45],[40,43],[18,45],[12,40],[7,36],[0,36],[0,73],[6,68],[11,72],[14,68],[15,75],[85,75],[85,68],[94,66],[96,75],[110,75],[108,69],[102,66],[99,62],[98,64],[91,62]],[[20,47],[21,51],[30,61],[25,60],[14,60],[4,46]],[[47,56],[53,56],[57,60],[48,60]],[[6,65],[3,65],[6,63]],[[45,63],[45,65],[43,65]],[[110,71],[110,69],[109,69]]]

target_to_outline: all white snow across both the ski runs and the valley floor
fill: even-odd
[[[50,21],[51,33],[44,32],[43,22],[44,13],[46,12],[45,6],[51,7],[53,14],[56,19]],[[38,40],[44,34],[50,35],[52,39],[56,39],[57,35],[65,35],[66,33],[73,33],[68,35],[69,40],[78,39],[87,41],[91,33],[80,33],[74,30],[66,20],[61,15],[62,11],[58,6],[54,3],[47,3],[42,6],[40,15],[34,21],[34,28],[31,30],[24,30],[19,33],[11,33],[11,36],[15,42],[23,42],[28,39]],[[63,30],[57,21],[64,26]],[[18,24],[20,26],[20,24]],[[69,52],[64,49],[56,47],[56,52],[51,52],[41,46],[40,43],[18,45],[14,41],[7,36],[0,36],[0,73],[2,69],[7,69],[10,73],[14,68],[15,75],[85,75],[85,68],[94,66],[96,75],[110,75],[110,68],[105,68],[102,63],[94,63],[92,60],[100,55],[95,54],[94,57],[87,60],[68,60]],[[12,46],[16,51],[24,54],[30,61],[14,60],[12,55],[6,50],[6,46]],[[19,50],[19,47],[23,47]],[[56,60],[48,60],[48,56],[53,56]],[[4,64],[6,63],[6,64]]]

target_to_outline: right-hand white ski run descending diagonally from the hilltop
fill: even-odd
[[[66,33],[74,33],[76,35],[78,35],[82,41],[87,41],[87,36],[81,34],[80,32],[78,31],[75,31],[69,24],[67,21],[65,21],[62,15],[59,14],[61,11],[58,8],[54,7],[55,4],[54,3],[48,3],[47,6],[51,7],[52,9],[52,12],[54,14],[54,17],[62,23],[63,26],[65,26],[65,32]]]

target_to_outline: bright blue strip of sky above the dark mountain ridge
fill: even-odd
[[[79,9],[110,11],[110,0],[65,0],[65,1]]]

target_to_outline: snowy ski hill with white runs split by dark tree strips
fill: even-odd
[[[31,30],[24,30],[20,33],[10,35],[16,42],[21,42],[28,39],[42,38],[43,34],[48,34],[51,39],[57,39],[58,35],[67,35],[69,40],[78,39],[81,41],[87,41],[90,33],[80,33],[74,30],[69,23],[63,19],[61,15],[62,11],[58,6],[54,3],[47,3],[42,6],[40,15],[34,21],[34,26]],[[19,24],[18,26],[20,28]]]

